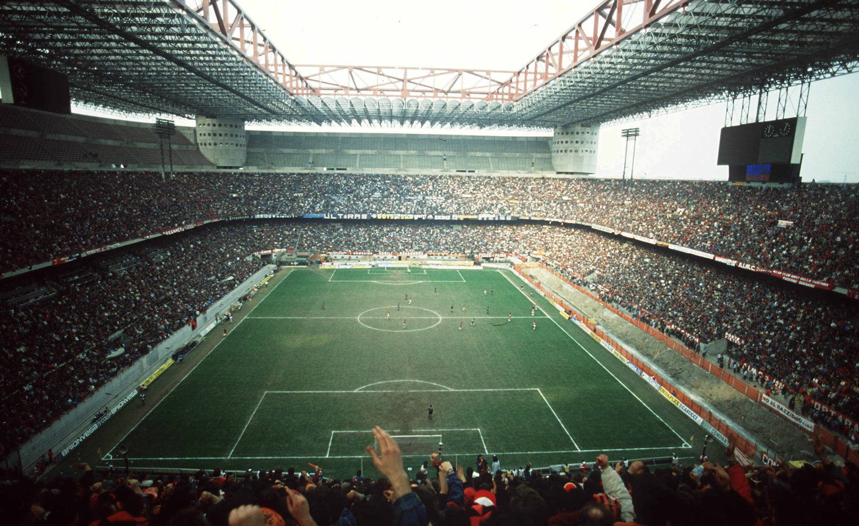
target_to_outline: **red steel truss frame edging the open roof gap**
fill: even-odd
[[[198,0],[196,13],[295,95],[520,100],[690,0],[607,0],[521,70],[292,64],[235,0]],[[624,15],[625,12],[625,15]]]

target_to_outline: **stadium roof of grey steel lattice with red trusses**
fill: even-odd
[[[609,0],[517,71],[295,66],[236,0],[8,0],[0,54],[126,113],[551,128],[855,71],[859,0]]]

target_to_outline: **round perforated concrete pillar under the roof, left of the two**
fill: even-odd
[[[245,166],[247,134],[241,118],[197,116],[197,146],[218,167]]]

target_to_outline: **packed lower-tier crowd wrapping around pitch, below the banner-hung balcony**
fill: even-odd
[[[314,253],[542,251],[571,281],[661,329],[682,330],[694,338],[687,339],[690,347],[729,332],[744,342],[732,351],[735,365],[754,367],[797,393],[812,391],[830,407],[859,416],[859,344],[851,321],[859,309],[852,302],[589,230],[270,220],[216,223],[155,243],[168,257],[154,262],[132,246],[131,255],[143,264],[131,271],[99,270],[99,279],[83,286],[50,285],[55,295],[13,308],[0,322],[4,444],[31,436],[253,274],[259,263],[248,261],[249,254],[288,246]],[[125,354],[108,359],[117,345],[108,336],[118,330],[130,343]]]

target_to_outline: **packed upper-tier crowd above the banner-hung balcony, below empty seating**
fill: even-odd
[[[161,181],[65,171],[3,171],[0,180],[4,271],[229,215],[500,214],[596,223],[859,288],[855,184],[250,173]]]

